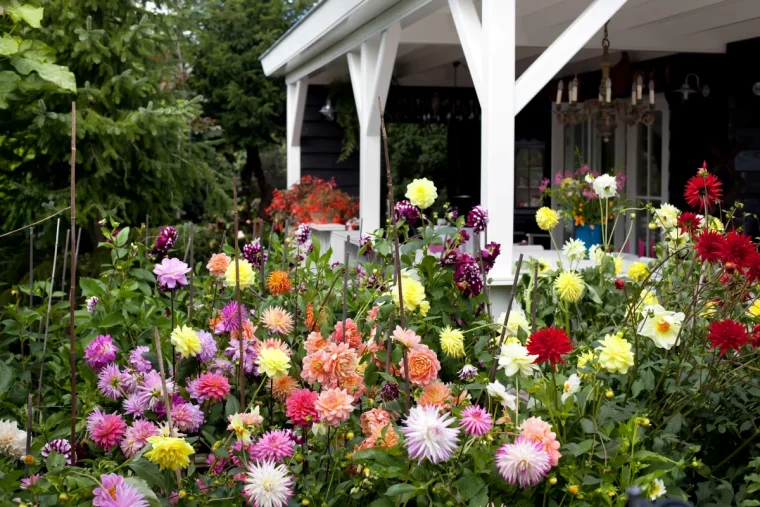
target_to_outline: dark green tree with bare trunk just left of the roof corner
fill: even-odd
[[[264,75],[259,57],[305,12],[313,0],[197,0],[197,45],[189,84],[205,98],[204,109],[222,127],[222,151],[246,155],[241,170],[243,218],[272,198],[261,149],[283,142],[285,84]],[[254,181],[256,180],[256,186]]]

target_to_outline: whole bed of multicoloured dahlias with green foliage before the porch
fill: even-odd
[[[720,188],[695,178],[709,209]],[[25,393],[3,398],[15,421],[0,423],[0,496],[623,507],[638,485],[650,499],[752,505],[760,253],[749,238],[679,212],[660,226],[677,241],[627,274],[602,248],[582,271],[524,263],[497,316],[499,245],[462,243],[465,225],[498,224],[477,206],[433,226],[435,193],[409,188],[393,223],[362,238],[372,260],[346,266],[305,228],[189,266],[175,242],[149,250],[112,222],[111,264],[81,280],[74,445],[59,409],[68,351],[55,345],[28,451]],[[543,213],[548,230],[557,222]],[[24,343],[36,319],[22,304],[2,326]],[[32,359],[3,354],[2,371],[23,379]]]

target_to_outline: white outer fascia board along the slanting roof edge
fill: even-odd
[[[294,56],[319,40],[367,0],[326,0],[290,33],[272,46],[261,59],[264,74],[271,76]]]

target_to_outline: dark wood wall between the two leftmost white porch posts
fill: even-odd
[[[359,151],[338,162],[343,129],[319,110],[327,101],[327,87],[309,86],[301,131],[301,174],[324,180],[334,178],[341,190],[359,196]]]

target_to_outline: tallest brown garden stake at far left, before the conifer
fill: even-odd
[[[74,232],[77,224],[76,208],[76,162],[77,162],[77,103],[71,103],[71,266],[69,270],[69,370],[71,370],[71,464],[77,462],[76,431],[77,431],[77,370],[76,370],[76,340],[74,339],[74,292],[76,291],[77,256],[79,255],[79,240],[74,245]],[[82,233],[82,229],[79,229]]]

